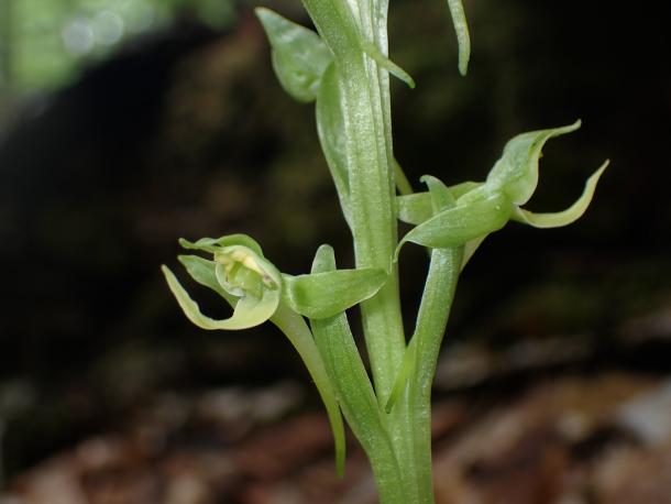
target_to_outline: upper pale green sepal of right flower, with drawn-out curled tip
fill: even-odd
[[[579,128],[580,121],[575,121],[566,127],[531,131],[515,136],[506,144],[501,158],[487,175],[486,191],[503,191],[513,204],[526,204],[538,185],[538,160],[544,143],[553,136],[570,133]],[[464,197],[468,198],[469,195]]]

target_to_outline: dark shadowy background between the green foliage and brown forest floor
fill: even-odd
[[[513,0],[466,11],[461,78],[442,2],[392,1],[392,57],[418,84],[393,88],[395,150],[415,187],[425,173],[483,179],[513,135],[578,118],[581,130],[546,147],[528,207],[563,208],[604,158],[612,165],[576,224],[512,223],[485,242],[462,276],[450,342],[582,335],[607,353],[627,320],[671,307],[669,7]],[[158,269],[176,266],[179,237],[232,232],[288,273],[306,271],[322,242],[351,262],[312,106],[283,94],[248,4],[227,30],[185,12],[12,113],[0,138],[10,474],[122,425],[158,391],[306,380],[273,328],[189,325]],[[425,256],[404,255],[411,314]],[[671,366],[663,354],[637,365]]]

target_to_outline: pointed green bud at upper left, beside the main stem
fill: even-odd
[[[319,35],[265,8],[256,15],[273,47],[273,67],[282,87],[296,100],[315,101],[333,55]]]

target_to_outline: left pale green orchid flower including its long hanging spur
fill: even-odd
[[[344,461],[344,430],[336,392],[323,361],[302,316],[328,319],[374,296],[388,274],[378,269],[331,270],[309,275],[282,274],[264,255],[256,241],[246,234],[196,242],[179,240],[183,248],[211,254],[179,255],[179,262],[199,284],[215,291],[233,307],[233,314],[216,320],[204,315],[174,273],[162,266],[167,284],[182,310],[196,326],[237,330],[270,320],[298,351],[323,399],[336,439],[337,465]]]

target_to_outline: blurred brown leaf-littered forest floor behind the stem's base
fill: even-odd
[[[671,373],[650,365],[668,359],[670,328],[671,310],[662,310],[630,321],[607,351],[580,338],[453,348],[436,382],[437,502],[671,503]],[[0,496],[1,504],[375,502],[353,439],[345,475],[336,475],[326,416],[295,381],[157,394],[123,427],[13,476]]]

